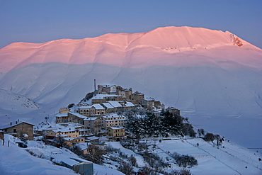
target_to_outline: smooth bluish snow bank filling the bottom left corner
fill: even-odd
[[[71,169],[31,156],[25,149],[18,147],[16,139],[10,135],[5,135],[4,146],[3,140],[0,140],[0,171],[1,174],[75,174]]]

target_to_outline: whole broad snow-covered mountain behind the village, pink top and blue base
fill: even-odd
[[[13,43],[0,50],[0,72],[1,89],[50,111],[79,102],[96,79],[180,108],[207,130],[261,135],[262,50],[228,31],[166,27]]]

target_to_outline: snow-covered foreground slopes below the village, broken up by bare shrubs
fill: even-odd
[[[182,169],[178,166],[176,160],[172,154],[174,152],[178,154],[188,154],[195,157],[198,161],[198,165],[193,167],[187,167],[192,174],[242,174],[258,175],[262,172],[261,155],[254,152],[250,152],[248,149],[234,145],[234,143],[225,140],[220,147],[215,146],[212,142],[205,142],[203,139],[180,139],[169,138],[170,140],[161,140],[154,138],[154,140],[142,140],[140,142],[146,143],[149,147],[148,152],[156,154],[169,166],[164,168],[164,171],[171,172],[172,170]],[[8,147],[8,141],[10,141]],[[44,145],[43,142],[28,141],[28,149],[35,154],[30,155],[25,149],[16,145],[16,138],[11,135],[5,135],[5,142],[3,145],[0,140],[0,170],[2,174],[74,174],[74,171],[67,169],[64,166],[58,166],[52,164],[59,160],[65,160],[79,157],[65,148],[57,148],[50,145]],[[139,171],[139,168],[145,166],[147,161],[142,155],[137,154],[137,150],[133,152],[131,149],[124,148],[120,142],[106,142],[108,147],[117,149],[117,152],[106,154],[105,157],[117,157],[120,152],[124,153],[128,157],[134,155],[137,161],[137,167],[135,171]],[[82,143],[84,144],[84,143]],[[53,152],[59,154],[54,155]],[[38,158],[41,157],[41,158]],[[50,161],[50,157],[55,159]],[[93,164],[94,174],[123,174],[117,171],[119,161],[110,161],[105,159],[105,163],[102,165]]]

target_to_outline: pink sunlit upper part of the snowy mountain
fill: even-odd
[[[234,54],[235,53],[235,54]],[[230,55],[229,55],[230,54]],[[81,40],[53,40],[47,43],[13,43],[0,50],[0,72],[35,63],[101,63],[117,67],[142,68],[154,65],[200,64],[191,55],[238,61],[251,67],[261,49],[236,35],[220,30],[190,27],[156,28],[144,33],[106,34]],[[186,60],[185,60],[186,59]]]

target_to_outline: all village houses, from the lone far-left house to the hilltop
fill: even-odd
[[[128,136],[125,131],[127,118],[116,112],[137,106],[154,109],[156,113],[164,110],[164,105],[160,101],[144,98],[144,94],[138,91],[133,93],[131,88],[98,85],[98,89],[95,89],[90,98],[84,99],[77,106],[60,108],[55,125],[34,128],[33,124],[18,120],[0,129],[16,137],[26,137],[28,140],[33,140],[33,136],[45,137],[47,140],[62,137],[68,146],[89,142],[105,149],[106,145],[101,142],[101,137],[105,140],[125,140]],[[166,110],[180,115],[180,111],[176,108],[169,107]]]

